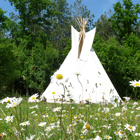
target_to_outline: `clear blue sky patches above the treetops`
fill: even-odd
[[[76,0],[67,0],[69,4],[74,4]],[[109,9],[113,11],[113,4],[122,0],[82,0],[82,3],[87,6],[91,11],[91,14],[95,15],[94,21],[97,21],[104,12],[108,12]],[[132,0],[133,4],[138,3],[140,0]],[[7,11],[6,16],[9,16],[9,12],[15,12],[14,7],[10,5],[8,0],[0,0],[0,8]]]

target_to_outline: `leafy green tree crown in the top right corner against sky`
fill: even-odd
[[[127,39],[138,24],[140,14],[140,4],[134,5],[131,0],[123,0],[123,4],[114,4],[114,14],[110,18],[112,27],[119,42]]]

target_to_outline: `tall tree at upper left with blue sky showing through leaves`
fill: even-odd
[[[50,0],[9,0],[9,2],[19,12],[20,27],[16,31],[16,36],[29,40],[28,48],[31,49],[36,37],[41,35],[45,46],[46,33],[49,38],[48,31],[50,31],[51,25],[48,19],[57,14],[54,9],[52,10],[52,2]],[[16,39],[17,45],[19,44],[18,38]]]

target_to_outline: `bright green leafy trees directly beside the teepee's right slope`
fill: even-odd
[[[93,48],[120,96],[131,96],[133,92],[129,81],[140,79],[139,51],[132,55],[127,43],[122,47],[115,37],[104,41],[99,35],[95,38]]]

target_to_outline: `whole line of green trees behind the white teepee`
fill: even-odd
[[[0,8],[0,97],[42,93],[50,76],[71,48],[77,17],[88,17],[86,31],[96,27],[93,48],[121,96],[132,96],[129,81],[140,79],[140,5],[114,4],[114,12],[94,21],[94,14],[76,0],[8,0],[18,15]],[[138,95],[140,98],[140,94]]]

